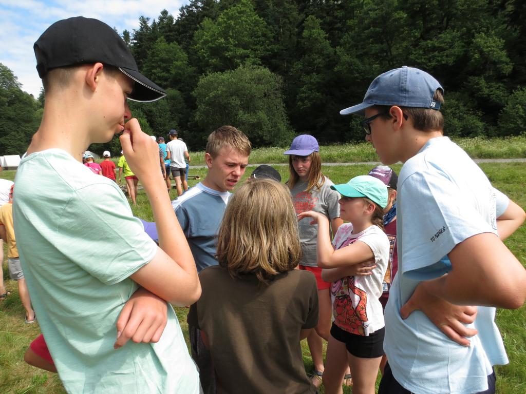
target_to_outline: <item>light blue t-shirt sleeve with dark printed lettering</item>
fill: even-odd
[[[475,204],[438,171],[411,174],[399,193],[404,275],[419,280],[443,275],[450,270],[446,255],[453,247],[473,235],[496,233]]]

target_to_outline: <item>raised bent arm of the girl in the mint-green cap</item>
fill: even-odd
[[[318,223],[318,266],[321,268],[336,268],[358,264],[374,258],[369,245],[355,242],[352,245],[334,250],[330,241],[329,220],[325,215],[314,211],[302,212],[298,220],[311,217],[310,224]]]

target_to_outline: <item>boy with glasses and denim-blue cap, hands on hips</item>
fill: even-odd
[[[499,239],[524,212],[443,137],[442,94],[427,72],[404,66],[378,76],[362,103],[340,112],[365,116],[366,140],[384,164],[404,163],[379,393],[494,392],[492,366],[508,362],[494,307],[526,299],[526,271]],[[472,308],[453,304],[484,306],[474,318]]]

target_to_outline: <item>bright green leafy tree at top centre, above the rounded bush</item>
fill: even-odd
[[[194,35],[194,50],[205,71],[261,64],[268,53],[268,27],[250,0],[240,0],[221,12],[217,20],[205,18]]]

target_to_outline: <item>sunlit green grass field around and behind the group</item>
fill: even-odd
[[[523,139],[522,155],[526,153],[526,139]],[[510,143],[510,142],[508,142]],[[476,143],[473,143],[476,145]],[[483,141],[480,141],[483,145]],[[343,149],[343,147],[342,147]],[[498,149],[498,148],[495,148]],[[261,150],[257,150],[258,152]],[[262,155],[264,157],[264,155]],[[502,156],[501,156],[502,157]],[[365,159],[359,159],[362,161]],[[377,160],[373,158],[372,160]],[[271,160],[259,161],[259,157],[251,157],[250,162],[270,162]],[[350,159],[340,159],[340,162],[351,161]],[[192,163],[197,164],[197,163]],[[371,169],[371,165],[352,165],[352,166],[325,166],[323,171],[335,183],[347,182],[350,178],[365,174]],[[522,207],[526,206],[526,167],[524,163],[484,163],[480,164],[482,170],[488,175],[493,185],[506,193]],[[400,165],[393,166],[398,172]],[[282,180],[288,179],[288,169],[286,166],[277,166]],[[244,179],[248,177],[251,168],[248,168]],[[199,175],[204,178],[206,170],[190,170],[190,175]],[[4,171],[0,173],[0,178],[13,179],[14,171]],[[193,186],[198,181],[189,180],[189,185]],[[171,198],[176,197],[175,190],[171,192]],[[139,191],[137,206],[133,207],[136,216],[145,220],[153,220],[151,210],[144,192]],[[520,262],[526,266],[526,225],[523,225],[505,243],[511,251],[519,258]],[[8,277],[7,263],[3,265],[4,278]],[[19,302],[16,291],[16,283],[6,279],[6,287],[12,292],[11,296],[0,303],[0,393],[3,394],[57,394],[64,393],[64,389],[55,374],[50,374],[26,365],[23,361],[24,352],[31,343],[32,339],[39,334],[38,325],[24,324],[24,310]],[[188,338],[186,325],[187,309],[177,308],[177,315],[183,327],[185,338]],[[497,392],[499,394],[523,394],[526,392],[526,307],[518,310],[499,310],[497,313],[497,324],[501,329],[504,344],[508,351],[510,364],[497,367]],[[306,341],[302,343],[303,355],[307,371],[312,369],[312,360]],[[321,392],[323,390],[321,389]],[[346,393],[351,393],[350,388],[345,388]]]

